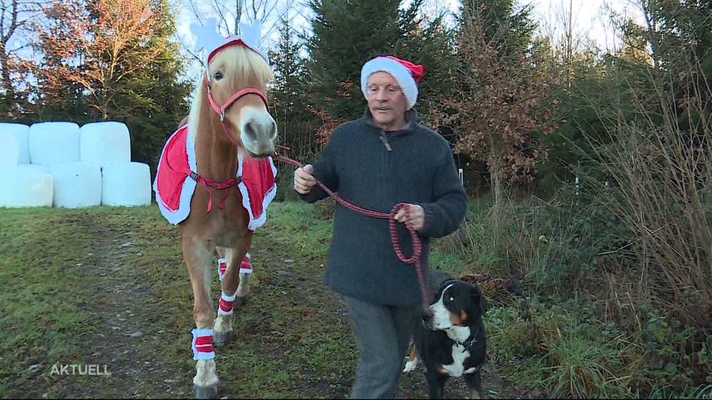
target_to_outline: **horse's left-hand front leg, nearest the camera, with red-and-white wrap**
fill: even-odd
[[[193,318],[196,328],[192,331],[193,359],[196,374],[193,377],[197,399],[212,399],[217,395],[218,377],[213,349],[213,302],[210,295],[212,249],[207,241],[183,238],[183,258],[188,268],[193,287]]]

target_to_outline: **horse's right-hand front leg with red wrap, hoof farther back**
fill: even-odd
[[[227,268],[221,279],[221,294],[219,298],[219,307],[217,317],[214,324],[215,343],[219,346],[227,344],[232,340],[232,316],[235,307],[244,304],[240,300],[241,289],[244,288],[244,259],[247,257],[247,249],[251,244],[251,237],[241,241],[234,248],[218,248],[218,253],[221,258],[227,262]]]

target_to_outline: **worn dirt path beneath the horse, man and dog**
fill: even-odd
[[[179,247],[170,244],[177,243],[177,231],[147,232],[141,219],[112,225],[101,214],[78,218],[97,239],[81,266],[93,280],[94,296],[85,307],[97,325],[86,337],[83,358],[110,374],[63,379],[51,392],[109,399],[192,397],[192,292]],[[256,235],[251,300],[234,319],[236,341],[216,350],[219,396],[346,398],[356,354],[345,307],[323,285],[318,261],[286,254],[275,240]],[[157,247],[163,251],[157,253]],[[216,282],[213,288],[216,298]],[[513,396],[491,365],[483,370],[483,385],[487,398]],[[426,393],[422,366],[404,375],[402,398],[426,398]],[[461,379],[452,379],[446,396],[467,398],[468,390]]]

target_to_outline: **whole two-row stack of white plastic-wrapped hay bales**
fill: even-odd
[[[0,206],[80,208],[151,203],[147,164],[131,162],[121,122],[0,123]]]

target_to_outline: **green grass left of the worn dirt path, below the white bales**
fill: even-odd
[[[95,324],[90,290],[78,263],[90,237],[52,209],[0,211],[0,396],[9,382],[26,386],[34,364],[80,361],[85,335]]]

